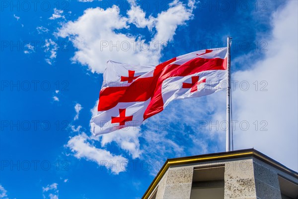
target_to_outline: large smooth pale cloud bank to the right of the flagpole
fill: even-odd
[[[246,92],[237,89],[233,93],[234,119],[247,120],[251,124],[247,131],[241,131],[239,128],[235,131],[235,147],[238,149],[254,147],[296,171],[298,170],[297,13],[297,1],[288,1],[283,9],[276,11],[272,19],[272,37],[267,39],[268,51],[265,52],[264,59],[253,63],[251,69],[238,71],[232,76],[233,80],[248,81],[250,86]],[[258,91],[255,91],[256,87],[253,84],[255,81],[258,81]],[[265,89],[268,91],[260,91],[266,84]],[[254,121],[258,122],[258,127],[253,124]],[[268,130],[261,131],[266,122],[268,125],[265,129]]]

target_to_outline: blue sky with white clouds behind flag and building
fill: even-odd
[[[234,150],[298,171],[298,2],[0,1],[0,199],[139,199],[167,158],[225,151],[225,92],[94,137],[108,60],[157,65],[231,36]]]

